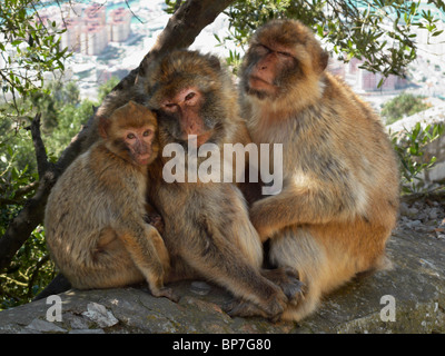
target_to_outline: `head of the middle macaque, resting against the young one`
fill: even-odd
[[[216,57],[172,51],[154,63],[141,83],[147,106],[157,113],[162,145],[196,140],[201,146],[224,131],[231,93]]]

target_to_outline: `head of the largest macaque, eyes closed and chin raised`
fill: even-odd
[[[328,61],[312,31],[294,20],[270,21],[253,37],[241,67],[241,88],[259,99],[297,99],[318,82]],[[291,101],[291,100],[290,100]]]

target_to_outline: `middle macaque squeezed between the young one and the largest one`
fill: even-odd
[[[214,144],[222,152],[222,144],[250,141],[235,89],[217,58],[174,51],[139,79],[148,107],[158,116],[161,151],[177,144],[185,151],[185,167],[191,165],[190,147]],[[299,295],[300,284],[284,268],[261,269],[261,243],[241,191],[231,182],[204,182],[187,168],[185,181],[168,182],[162,170],[170,159],[159,156],[149,167],[148,189],[165,222],[171,259],[167,280],[205,278],[249,301],[241,313],[234,303],[229,313],[279,317],[288,297]],[[205,159],[198,157],[196,167]]]

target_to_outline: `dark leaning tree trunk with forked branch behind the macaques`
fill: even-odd
[[[126,92],[131,90],[137,76],[144,75],[144,70],[147,69],[151,60],[174,49],[187,48],[190,46],[199,32],[207,24],[211,23],[234,0],[188,0],[185,2],[170,18],[167,27],[159,34],[154,48],[142,59],[139,68],[134,69],[125,77],[112,89],[112,92],[119,95],[119,91]],[[48,162],[46,154],[44,156],[41,154],[43,142],[41,141],[39,125],[36,120],[31,134],[36,147],[40,184],[36,195],[26,202],[23,209],[11,221],[3,237],[0,238],[0,271],[9,266],[18,249],[29,238],[32,230],[43,220],[44,207],[52,186],[76,157],[86,149],[85,142],[87,141],[92,123],[93,117],[89,119],[88,123],[62,152],[58,162],[53,165]]]

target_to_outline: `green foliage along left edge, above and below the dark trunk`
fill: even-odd
[[[31,135],[36,100],[49,97],[47,79],[62,73],[69,51],[60,47],[59,23],[39,17],[40,1],[0,1],[0,235],[31,199],[39,185]],[[48,283],[53,267],[41,227],[28,235],[14,261],[0,275],[0,309],[30,298]],[[40,277],[44,275],[43,279]]]

